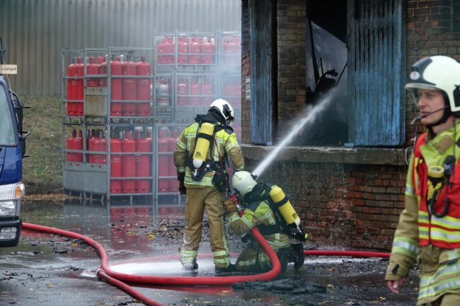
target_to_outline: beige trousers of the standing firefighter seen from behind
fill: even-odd
[[[183,244],[180,246],[180,261],[183,264],[190,264],[197,257],[206,211],[214,265],[216,268],[229,266],[230,252],[225,233],[224,201],[225,192],[219,192],[215,187],[187,188],[185,230]]]

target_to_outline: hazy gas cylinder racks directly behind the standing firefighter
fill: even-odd
[[[241,33],[179,32],[156,33],[154,61],[154,100],[156,114],[171,107],[171,119],[156,124],[156,199],[178,196],[173,151],[180,132],[191,124],[195,114],[206,113],[217,98],[228,100],[236,112],[232,124],[241,134]],[[171,80],[171,81],[170,81]],[[171,100],[168,100],[171,98]],[[161,205],[161,200],[159,205]]]

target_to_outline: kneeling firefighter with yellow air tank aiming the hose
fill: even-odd
[[[281,273],[286,269],[288,262],[294,262],[294,269],[300,269],[304,264],[304,247],[300,243],[293,244],[292,238],[305,241],[307,235],[299,228],[299,216],[282,189],[276,185],[258,184],[255,177],[246,171],[236,172],[231,184],[244,207],[244,214],[240,217],[235,197],[232,196],[225,201],[231,229],[236,235],[245,235],[257,226],[277,252],[281,262]],[[243,236],[245,237],[248,236]],[[236,260],[238,271],[263,272],[270,269],[272,262],[268,254],[255,240],[251,240]]]

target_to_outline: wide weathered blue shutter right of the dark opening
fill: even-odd
[[[402,145],[406,105],[403,1],[350,0],[348,12],[350,142]]]

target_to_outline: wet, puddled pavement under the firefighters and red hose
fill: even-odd
[[[25,203],[24,222],[71,230],[105,247],[114,271],[154,276],[215,276],[209,257],[207,226],[203,228],[197,273],[185,272],[178,260],[182,241],[181,209],[151,206],[82,206]],[[244,247],[229,233],[232,259]],[[311,242],[306,247],[315,247]],[[318,249],[341,249],[331,242]],[[284,281],[236,286],[137,286],[141,293],[165,305],[415,305],[417,271],[400,295],[384,283],[384,259],[306,257],[294,273],[287,267]],[[18,247],[0,249],[0,305],[143,305],[121,290],[100,281],[98,254],[80,240],[23,231]],[[241,275],[241,274],[238,274]],[[294,285],[292,285],[294,283]],[[270,285],[270,286],[268,286]],[[289,288],[286,285],[291,286]],[[284,290],[282,290],[284,288]]]

